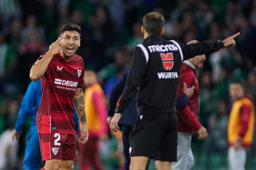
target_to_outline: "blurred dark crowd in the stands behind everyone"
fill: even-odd
[[[209,137],[202,142],[193,136],[193,169],[227,169],[229,82],[243,80],[256,99],[256,0],[0,0],[0,143],[15,148],[9,155],[13,169],[21,167],[29,121],[16,143],[3,134],[13,129],[32,64],[57,40],[62,24],[81,26],[76,53],[85,69],[97,73],[108,103],[135,46],[144,40],[142,17],[150,11],[165,17],[163,37],[167,40],[217,41],[240,32],[236,47],[207,54],[204,68],[197,72],[199,120]],[[106,169],[120,169],[120,137],[108,136],[101,143],[101,161]],[[256,167],[255,151],[256,139],[246,169]],[[3,154],[0,145],[0,162]]]

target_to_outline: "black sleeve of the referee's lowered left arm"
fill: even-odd
[[[140,85],[142,76],[146,68],[146,59],[140,47],[136,47],[132,55],[131,66],[127,76],[124,92],[119,101],[118,113],[122,113],[132,98],[137,94],[138,86]]]

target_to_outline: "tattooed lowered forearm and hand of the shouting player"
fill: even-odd
[[[85,143],[88,140],[89,133],[87,130],[87,122],[85,115],[85,97],[83,96],[82,88],[76,88],[74,104],[76,113],[78,114],[78,117],[81,120],[82,136],[78,138],[78,142]]]

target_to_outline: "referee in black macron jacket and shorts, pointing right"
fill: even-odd
[[[158,170],[171,169],[177,161],[176,93],[181,62],[220,48],[234,46],[234,38],[224,41],[202,41],[196,44],[164,40],[164,17],[151,12],[143,17],[141,32],[145,41],[137,45],[132,56],[122,98],[110,128],[117,132],[118,120],[129,102],[138,93],[139,117],[132,130],[130,142],[131,170],[145,170],[149,158],[155,159]],[[137,89],[139,90],[137,92]]]

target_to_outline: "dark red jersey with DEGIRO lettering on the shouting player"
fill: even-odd
[[[59,53],[52,58],[41,78],[42,99],[36,117],[37,133],[76,134],[72,106],[76,88],[83,86],[83,75],[81,56],[74,54],[70,61],[66,61]]]

